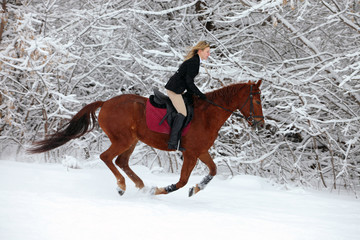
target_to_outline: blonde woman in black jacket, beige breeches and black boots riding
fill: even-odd
[[[201,99],[206,99],[203,94],[194,83],[194,78],[199,73],[200,62],[207,60],[210,56],[210,45],[205,41],[200,41],[194,47],[191,48],[189,53],[185,57],[185,61],[181,64],[179,70],[170,78],[165,85],[167,94],[171,99],[177,115],[174,118],[170,139],[168,142],[169,150],[180,150],[185,151],[184,148],[180,147],[179,140],[181,138],[181,130],[187,116],[186,106],[182,94],[185,90],[197,95]]]

